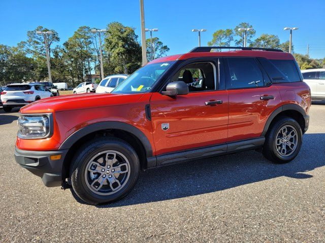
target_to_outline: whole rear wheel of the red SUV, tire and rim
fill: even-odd
[[[288,163],[298,155],[302,138],[301,127],[295,119],[286,116],[279,117],[266,135],[263,155],[277,164]]]

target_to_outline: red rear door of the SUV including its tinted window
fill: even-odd
[[[226,58],[229,95],[228,142],[259,137],[280,94],[256,58]]]

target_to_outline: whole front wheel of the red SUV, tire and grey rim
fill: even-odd
[[[112,173],[114,168],[123,173]],[[89,141],[76,152],[70,180],[75,193],[86,203],[107,204],[126,196],[135,186],[139,172],[139,157],[131,145],[103,137]]]

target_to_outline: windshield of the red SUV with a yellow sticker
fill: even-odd
[[[127,77],[119,84],[112,93],[115,94],[136,94],[150,92],[161,74],[165,73],[174,63],[159,62],[147,64]]]

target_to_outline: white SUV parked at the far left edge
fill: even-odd
[[[13,107],[21,107],[33,101],[53,96],[43,85],[39,84],[12,84],[1,92],[1,101],[4,111],[10,112]]]

